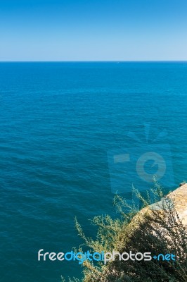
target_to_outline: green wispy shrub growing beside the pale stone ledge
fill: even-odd
[[[187,233],[174,209],[174,204],[164,196],[160,185],[150,191],[154,200],[150,200],[150,193],[142,197],[134,190],[136,197],[141,201],[141,212],[136,204],[129,205],[119,195],[115,196],[114,204],[119,212],[117,219],[110,216],[96,216],[92,223],[98,226],[96,240],[87,238],[82,227],[75,219],[75,226],[79,236],[91,252],[151,252],[152,255],[174,254],[176,261],[157,261],[152,259],[145,262],[115,259],[104,264],[103,262],[89,262],[83,266],[84,278],[82,282],[186,282],[187,281]],[[161,200],[162,208],[148,205]],[[82,247],[77,250],[82,251]],[[63,281],[65,281],[63,279]],[[78,282],[77,278],[70,278],[70,282]]]

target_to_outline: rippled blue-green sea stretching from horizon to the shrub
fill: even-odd
[[[129,131],[144,141],[145,123],[150,140],[167,131],[167,179],[172,189],[186,180],[186,106],[185,62],[0,63],[1,281],[82,275],[37,252],[79,246],[75,216],[93,237],[89,219],[115,216],[108,152],[136,147]]]

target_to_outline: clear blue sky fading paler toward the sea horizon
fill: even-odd
[[[0,61],[186,60],[186,0],[0,0]]]

